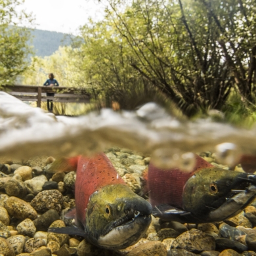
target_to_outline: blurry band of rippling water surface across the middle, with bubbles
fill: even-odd
[[[256,154],[256,128],[247,130],[210,119],[181,121],[148,103],[135,112],[104,109],[81,117],[55,117],[0,92],[0,155],[76,156],[121,146],[152,155],[159,167],[193,166],[193,153],[210,150],[232,165]]]

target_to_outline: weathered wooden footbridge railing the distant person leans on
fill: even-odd
[[[85,89],[74,87],[3,85],[1,91],[5,91],[22,101],[36,101],[39,108],[41,108],[41,102],[46,102],[47,100],[53,100],[53,102],[89,103],[91,98]],[[55,93],[55,95],[47,96],[46,93]]]

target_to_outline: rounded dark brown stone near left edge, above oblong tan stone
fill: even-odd
[[[10,179],[5,184],[5,192],[8,196],[24,198],[24,196],[28,194],[28,189],[23,181],[19,181],[17,179]]]

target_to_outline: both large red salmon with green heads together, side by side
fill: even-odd
[[[144,173],[150,203],[125,184],[103,153],[54,161],[56,171],[77,169],[76,208],[66,216],[75,219],[75,226],[49,232],[77,234],[98,247],[123,249],[144,236],[151,214],[165,221],[213,223],[237,215],[255,199],[256,175],[219,169],[195,158],[190,172],[150,163]]]

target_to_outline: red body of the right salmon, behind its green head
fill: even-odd
[[[203,168],[214,167],[203,158],[195,154],[196,164],[188,171],[179,168],[160,169],[150,163],[148,167],[148,191],[152,206],[168,204],[182,207],[182,193],[184,184],[196,172]]]

